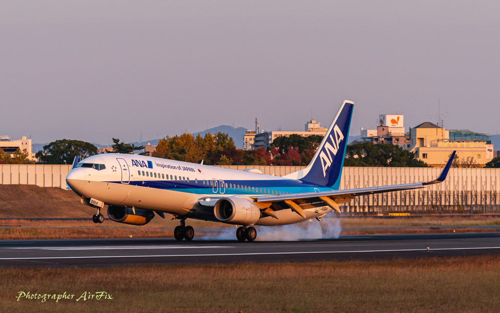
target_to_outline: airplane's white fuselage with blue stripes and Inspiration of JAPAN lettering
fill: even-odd
[[[213,214],[216,198],[236,196],[253,202],[252,197],[259,195],[332,190],[284,177],[131,154],[96,155],[77,166],[66,182],[83,198],[212,221],[217,221]],[[263,215],[256,224],[296,223],[331,211],[319,202],[303,202],[301,207],[305,218],[283,207],[275,210],[278,219]]]

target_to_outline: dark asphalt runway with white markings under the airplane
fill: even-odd
[[[429,247],[429,251],[427,251]],[[1,266],[313,262],[500,253],[500,233],[345,236],[304,241],[3,240]]]

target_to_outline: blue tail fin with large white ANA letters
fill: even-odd
[[[353,108],[354,103],[345,100],[309,165],[303,170],[284,177],[338,190]]]

